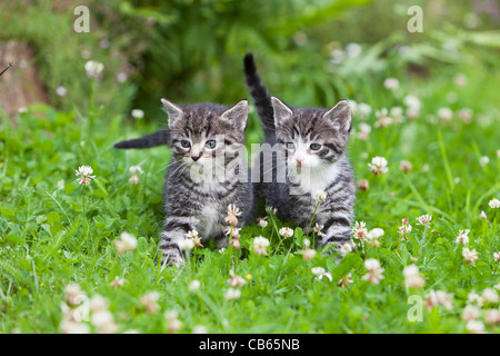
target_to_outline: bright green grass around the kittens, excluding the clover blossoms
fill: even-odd
[[[402,106],[411,88],[422,109],[418,120],[373,128],[367,141],[352,134],[349,148],[357,178],[370,185],[358,191],[357,220],[366,221],[369,229],[382,228],[384,235],[380,247],[368,247],[367,256],[358,244],[357,251],[338,265],[334,256],[321,254],[303,260],[304,233],[297,228],[293,237],[282,241],[278,229],[293,224],[270,216],[268,227],[253,224],[241,231],[238,251],[221,253],[209,244],[196,249],[183,267],[163,269],[158,261],[158,237],[164,218],[162,184],[169,151],[112,148],[158,126],[142,121],[123,126],[121,117],[107,118],[99,111],[96,122],[89,123],[78,108],[59,112],[39,105],[13,120],[3,116],[0,332],[60,333],[64,288],[78,284],[87,297],[101,295],[108,300],[119,333],[166,333],[167,310],[177,312],[182,323],[179,333],[192,333],[197,326],[209,333],[467,333],[462,313],[470,304],[469,293],[481,294],[500,283],[493,259],[500,250],[500,210],[488,207],[493,197],[500,198],[500,146],[494,136],[499,111],[490,95],[500,78],[476,70],[463,69],[474,90],[456,87],[453,73],[446,71],[433,75],[439,80],[402,83],[394,93],[382,86],[370,89],[391,107]],[[458,98],[452,103],[442,99],[450,91]],[[370,97],[376,98],[373,92]],[[457,116],[451,121],[437,118],[439,107],[449,105],[457,112],[461,101],[474,112],[471,123]],[[369,103],[381,108],[374,99]],[[257,121],[254,113],[251,120]],[[368,122],[374,121],[372,112]],[[388,159],[387,174],[371,175],[368,162],[374,156]],[[486,166],[480,165],[482,156],[489,157]],[[400,171],[403,159],[412,164],[411,171]],[[91,166],[97,176],[84,187],[84,216],[83,187],[74,175],[82,165]],[[144,170],[138,185],[129,182],[132,165]],[[478,217],[481,210],[487,220]],[[429,229],[416,225],[423,214],[432,215]],[[413,226],[408,241],[399,241],[402,218]],[[471,265],[463,261],[462,246],[456,243],[464,229],[471,230],[468,247],[479,254]],[[134,235],[138,246],[120,255],[113,241],[123,231]],[[267,256],[252,253],[256,236],[271,241]],[[234,253],[239,258],[233,258]],[[361,279],[367,273],[363,258],[380,260],[384,268],[380,284]],[[404,286],[402,270],[411,264],[423,275],[423,288]],[[323,267],[333,280],[318,280],[312,267]],[[239,288],[238,299],[227,300],[231,269],[247,283]],[[339,287],[349,273],[353,283]],[[117,276],[124,279],[123,286],[110,286]],[[200,281],[198,290],[190,290],[192,280]],[[438,289],[452,295],[452,308],[437,306],[429,312],[422,305],[421,320],[410,322],[416,304],[409,298],[413,296],[410,300],[418,305]],[[148,313],[141,303],[150,291],[159,293],[156,313]],[[484,303],[482,310],[498,307],[498,303]],[[84,324],[98,332],[92,323]],[[498,327],[487,325],[486,330],[497,333]]]

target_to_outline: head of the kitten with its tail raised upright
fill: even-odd
[[[351,130],[347,100],[330,110],[291,109],[272,97],[277,141],[287,149],[291,168],[320,169],[334,164],[346,150]]]

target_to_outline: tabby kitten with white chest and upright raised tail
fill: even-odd
[[[266,142],[281,148],[272,164],[272,182],[261,187],[268,205],[307,233],[318,204],[316,196],[327,192],[312,225],[322,226],[316,247],[337,244],[338,249],[350,241],[356,200],[353,171],[346,151],[351,129],[348,101],[341,100],[329,110],[291,108],[269,96],[251,53],[244,57],[244,72]]]

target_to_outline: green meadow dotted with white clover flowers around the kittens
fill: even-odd
[[[157,90],[140,93],[149,100],[144,113],[130,99],[137,87],[122,87],[113,63],[101,60],[92,75],[89,58],[79,57],[64,77],[73,81],[68,93],[53,93],[57,105],[9,116],[0,103],[0,333],[499,332],[498,32],[463,32],[456,52],[441,44],[459,36],[444,32],[439,46],[396,46],[396,36],[321,50],[313,29],[309,42],[298,33],[296,50],[229,48],[227,76],[223,63],[210,62],[211,76],[191,73],[187,87],[163,89],[180,103],[222,101],[228,92],[224,103],[250,98],[242,72],[250,48],[271,93],[286,102],[349,99],[354,248],[343,247],[340,261],[314,253],[314,227],[308,235],[262,206],[239,248],[203,241],[181,267],[162,266],[169,149],[113,148],[167,127],[158,86],[143,82]],[[117,107],[134,110],[110,111],[113,95]],[[247,144],[260,142],[254,108],[249,121]],[[82,166],[92,169],[86,184]]]

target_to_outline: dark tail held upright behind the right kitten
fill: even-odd
[[[272,109],[271,96],[257,72],[253,55],[247,53],[243,62],[247,86],[256,103],[266,138],[274,137],[274,111]]]

